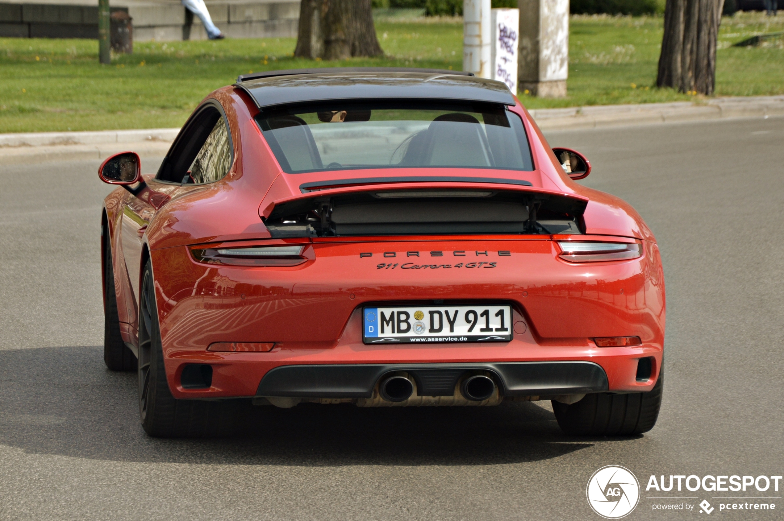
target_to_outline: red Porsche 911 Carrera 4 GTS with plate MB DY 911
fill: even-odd
[[[552,400],[564,432],[652,429],[659,248],[575,183],[505,84],[456,71],[247,74],[212,92],[155,175],[100,179],[107,366],[143,429],[201,436],[222,403]],[[326,405],[325,405],[326,406]]]

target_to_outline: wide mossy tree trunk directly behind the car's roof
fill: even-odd
[[[370,0],[302,0],[294,56],[344,60],[380,55]]]

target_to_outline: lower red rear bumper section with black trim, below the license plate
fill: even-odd
[[[636,379],[641,358],[653,360],[652,373],[646,381]],[[443,384],[450,388],[448,396],[454,392],[453,383],[466,371],[491,371],[505,396],[646,392],[653,389],[659,377],[661,361],[661,346],[650,344],[612,348],[539,346],[530,338],[528,342],[526,338],[515,338],[508,343],[472,345],[365,346],[347,342],[324,349],[276,347],[269,353],[191,351],[167,358],[165,364],[172,394],[179,399],[199,399],[368,397],[379,378],[390,371],[405,371],[420,381],[428,376],[448,376],[448,382]],[[186,389],[181,385],[183,369],[189,364],[212,367],[209,388]],[[429,375],[427,371],[457,374]],[[427,385],[418,382],[417,389],[423,387]],[[438,395],[422,391],[420,396]]]

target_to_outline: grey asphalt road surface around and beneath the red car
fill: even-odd
[[[630,201],[659,240],[666,387],[651,432],[571,438],[542,402],[308,404],[252,408],[229,440],[149,438],[136,375],[103,366],[97,162],[2,167],[0,518],[601,519],[585,490],[604,465],[643,488],[784,474],[784,119],[549,138],[590,157],[584,183]],[[779,497],[775,512],[711,517],[781,519],[782,495],[643,490],[627,519],[699,516],[654,512],[668,502],[654,496]]]

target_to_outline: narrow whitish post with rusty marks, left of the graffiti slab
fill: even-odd
[[[492,78],[490,0],[463,0],[463,71]]]

